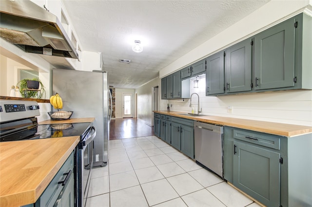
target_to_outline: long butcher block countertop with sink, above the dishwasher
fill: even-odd
[[[218,117],[218,116],[185,116],[180,114],[187,114],[185,112],[177,111],[154,111],[155,113],[165,114],[175,117],[180,117],[184,119],[190,119],[194,121],[201,121],[212,124],[219,124],[224,126],[232,126],[241,129],[253,130],[257,132],[264,132],[273,135],[285,136],[285,137],[295,137],[299,135],[312,133],[311,126],[302,126],[294,124],[276,123],[269,121],[256,121],[256,120],[246,120],[230,117]]]

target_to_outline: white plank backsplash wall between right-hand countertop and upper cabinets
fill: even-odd
[[[205,85],[205,77],[198,80]],[[312,126],[312,90],[206,96],[205,87],[193,88],[193,81],[190,85],[191,94],[198,93],[200,97],[202,114]],[[192,103],[197,102],[193,95]],[[170,100],[169,104],[173,111],[192,111],[190,99]],[[197,112],[197,105],[193,106]],[[228,113],[228,106],[232,106],[232,113]]]

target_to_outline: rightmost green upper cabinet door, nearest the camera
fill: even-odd
[[[294,18],[254,36],[254,89],[294,86]]]

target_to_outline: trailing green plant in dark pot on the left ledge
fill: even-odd
[[[39,89],[38,87],[39,85],[40,85],[40,90],[37,91],[36,89]],[[20,80],[16,84],[16,86],[20,87],[20,94],[21,94],[21,97],[23,98],[37,98],[38,97],[39,99],[41,99],[42,97],[44,98],[46,97],[45,87],[43,86],[39,78]],[[35,89],[35,90],[32,90],[32,89]]]

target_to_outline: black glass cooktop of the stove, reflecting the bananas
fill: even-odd
[[[0,141],[59,138],[69,136],[80,136],[81,140],[91,126],[92,123],[89,122],[36,125],[9,135],[1,136]]]

